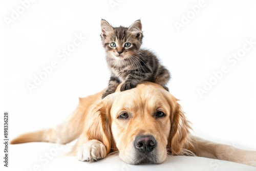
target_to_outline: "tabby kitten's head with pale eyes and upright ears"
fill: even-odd
[[[142,44],[142,25],[135,21],[129,28],[112,27],[106,20],[101,20],[101,40],[107,57],[125,59],[138,56],[137,50]]]

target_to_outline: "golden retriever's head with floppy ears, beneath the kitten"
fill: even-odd
[[[189,130],[177,99],[151,82],[105,97],[94,112],[97,130],[91,126],[89,137],[108,153],[117,148],[130,164],[162,163],[168,153],[179,154]]]

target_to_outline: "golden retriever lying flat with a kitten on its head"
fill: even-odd
[[[256,152],[192,136],[178,100],[156,83],[141,83],[101,99],[103,92],[80,98],[76,110],[55,128],[21,135],[11,143],[66,144],[78,138],[71,153],[90,162],[118,151],[121,160],[130,164],[162,163],[167,155],[196,155],[256,166]]]

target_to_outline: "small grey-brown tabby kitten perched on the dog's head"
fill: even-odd
[[[165,86],[170,79],[169,71],[160,64],[159,59],[149,50],[140,49],[142,44],[142,25],[140,20],[129,28],[112,27],[101,20],[101,40],[106,51],[106,61],[111,70],[108,89],[102,99],[116,91],[124,82],[121,91],[135,88],[143,81],[151,81]]]

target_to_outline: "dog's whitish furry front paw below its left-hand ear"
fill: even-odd
[[[80,161],[97,161],[106,157],[106,147],[98,140],[90,140],[78,147],[77,158]]]

